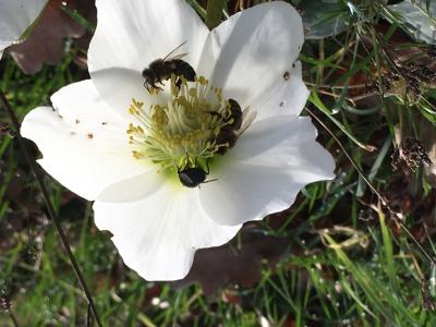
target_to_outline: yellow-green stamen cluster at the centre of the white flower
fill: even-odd
[[[187,82],[172,75],[167,89],[152,89],[150,95],[154,105],[149,108],[135,99],[129,108],[136,121],[128,130],[136,159],[174,170],[206,166],[231,146],[220,135],[234,124],[231,102],[235,101],[225,99],[222,89],[210,86],[204,76]]]

